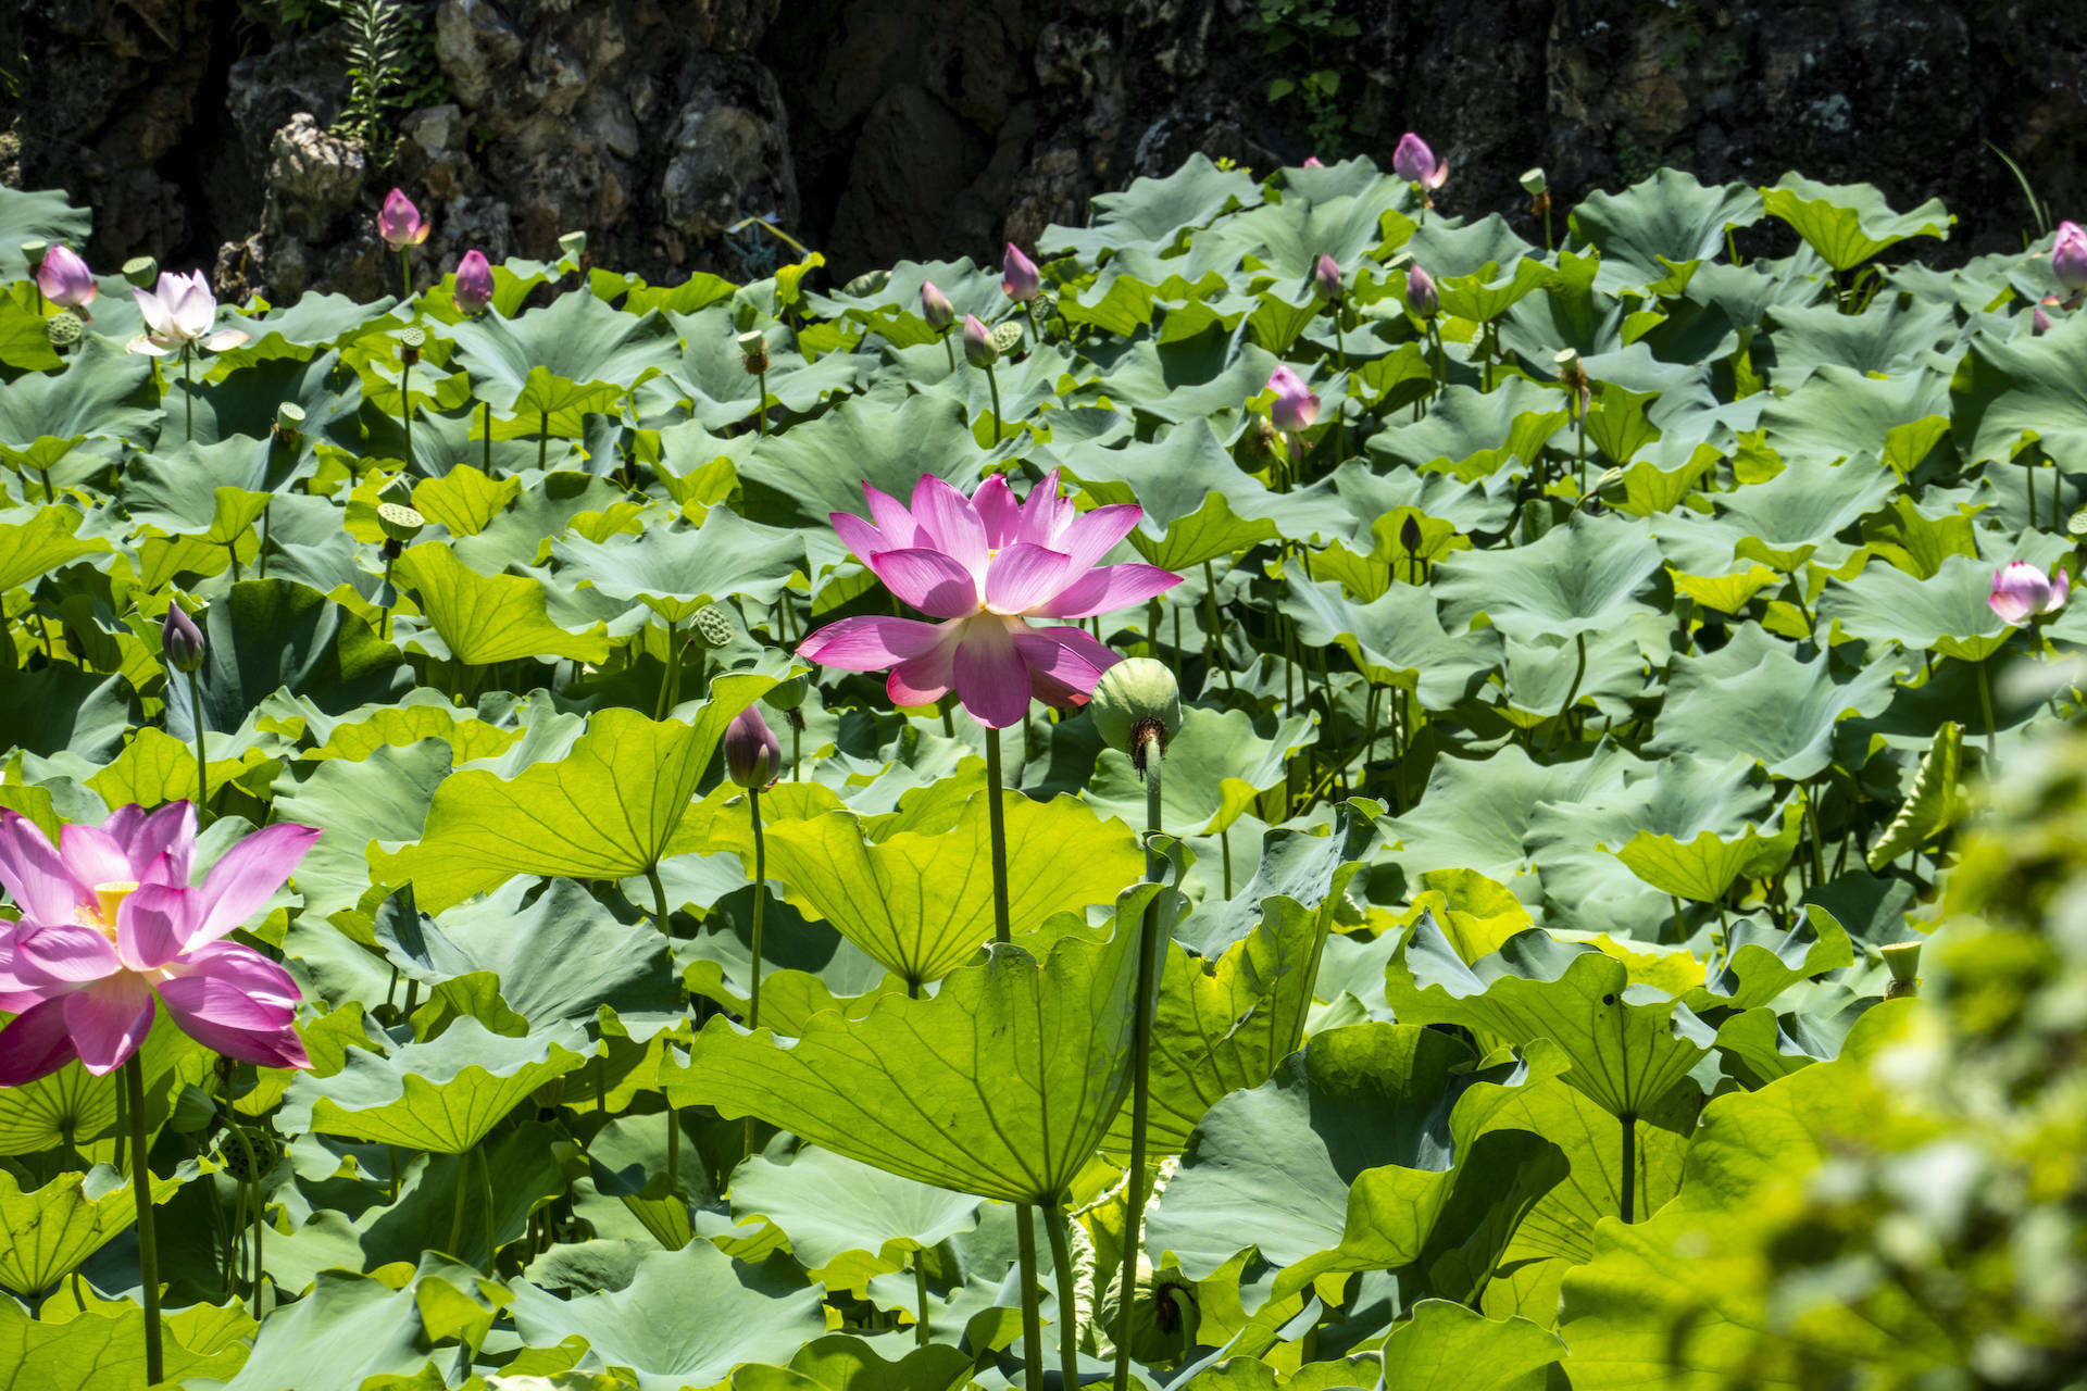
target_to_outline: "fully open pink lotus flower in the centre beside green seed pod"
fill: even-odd
[[[1102,565],[1144,515],[1135,503],[1075,513],[1058,471],[1014,501],[993,475],[968,498],[939,478],[914,486],[912,509],[864,484],[872,521],[833,513],[833,530],[893,594],[937,624],[845,617],[820,628],[799,657],[841,672],[883,672],[897,705],[933,705],[950,690],[979,724],[1004,730],[1035,697],[1081,705],[1117,665],[1079,628],[1031,628],[1031,617],[1079,619],[1144,603],[1181,582],[1156,565]]]

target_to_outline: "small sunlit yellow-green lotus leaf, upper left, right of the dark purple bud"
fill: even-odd
[[[549,594],[532,576],[482,576],[465,569],[449,542],[426,540],[399,557],[397,584],[413,590],[440,640],[434,657],[482,667],[497,661],[572,657],[607,661],[607,628],[570,632],[549,617]],[[430,649],[428,634],[407,638]]]

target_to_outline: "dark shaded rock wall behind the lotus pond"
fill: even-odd
[[[424,275],[467,246],[553,257],[570,227],[655,279],[758,275],[778,246],[728,229],[772,215],[845,277],[998,261],[1192,150],[1384,163],[1405,129],[1448,156],[1448,211],[1532,234],[1530,165],[1565,204],[1659,165],[1801,169],[1943,196],[1987,250],[2031,225],[1987,142],[2087,215],[2081,0],[1340,0],[1357,33],[1315,65],[1342,129],[1317,142],[1267,98],[1304,65],[1265,52],[1263,0],[415,2],[451,100],[401,113],[388,158],[330,133],[349,81],[315,0],[0,4],[0,179],[92,204],[102,265],[215,265],[275,300],[394,284],[392,184],[434,221]]]

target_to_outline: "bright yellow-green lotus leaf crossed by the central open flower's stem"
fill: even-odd
[[[751,865],[751,826],[741,830],[743,820],[720,815],[712,845],[728,843]],[[768,874],[791,903],[831,922],[885,970],[929,984],[991,936],[987,822],[985,792],[966,799],[952,824],[937,820],[874,840],[864,838],[854,811],[776,820],[766,828]],[[1052,913],[1108,903],[1144,874],[1129,828],[1104,822],[1073,797],[1033,801],[1006,792],[1004,822],[1008,926],[1016,934],[1033,932]]]

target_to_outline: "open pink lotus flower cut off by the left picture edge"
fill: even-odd
[[[319,836],[275,824],[190,886],[196,809],[119,807],[100,826],[67,826],[52,847],[23,815],[0,811],[0,886],[21,922],[0,922],[0,1087],[75,1057],[115,1072],[165,1005],[182,1030],[225,1057],[309,1068],[290,1018],[296,984],[265,955],[221,941],[290,878]]]

